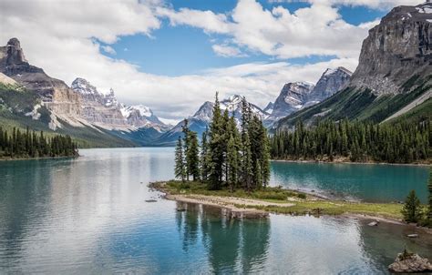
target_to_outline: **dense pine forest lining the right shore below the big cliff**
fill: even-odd
[[[305,128],[298,122],[292,132],[271,138],[273,158],[350,158],[351,161],[411,163],[432,156],[430,121],[420,124],[321,121]]]

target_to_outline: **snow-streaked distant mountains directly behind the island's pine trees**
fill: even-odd
[[[221,111],[228,109],[230,116],[234,116],[237,125],[240,126],[242,117],[242,96],[234,95],[223,99],[220,102]],[[264,112],[260,107],[249,103],[252,113],[262,119],[268,117],[269,114]],[[214,104],[210,101],[204,102],[198,111],[191,117],[188,117],[190,130],[198,133],[201,138],[202,133],[210,127],[211,117],[213,117]],[[168,132],[164,133],[160,138],[156,139],[154,144],[160,146],[173,146],[179,137],[182,137],[181,127],[184,121],[180,121],[175,127],[172,127]]]

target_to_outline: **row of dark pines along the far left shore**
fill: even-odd
[[[44,132],[0,127],[0,158],[45,158],[77,156],[77,144],[69,136],[46,138]]]

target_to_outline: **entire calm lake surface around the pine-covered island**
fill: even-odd
[[[172,148],[81,154],[77,159],[0,162],[0,273],[370,274],[386,273],[405,246],[432,258],[430,239],[407,239],[413,229],[400,226],[372,228],[355,219],[283,215],[232,220],[218,209],[195,205],[178,212],[176,202],[159,199],[159,192],[147,188],[151,180],[172,178]],[[408,180],[421,190],[416,182],[427,173],[424,168],[387,168],[406,179],[392,188],[374,180],[387,190],[376,196],[364,190],[373,187],[363,169],[373,167],[298,165],[298,172],[288,172],[292,165],[274,163],[273,184],[367,200],[399,199]],[[313,168],[321,176],[314,176]],[[404,172],[397,174],[399,169]],[[343,179],[347,175],[364,180],[355,187],[354,179]],[[341,183],[349,187],[338,187]]]

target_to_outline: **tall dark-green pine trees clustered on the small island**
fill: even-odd
[[[185,120],[184,138],[176,148],[175,176],[182,181],[201,180],[210,189],[244,188],[248,191],[265,187],[270,178],[270,146],[267,131],[250,104],[242,99],[242,125],[227,109],[222,113],[216,94],[210,129],[197,133]]]

